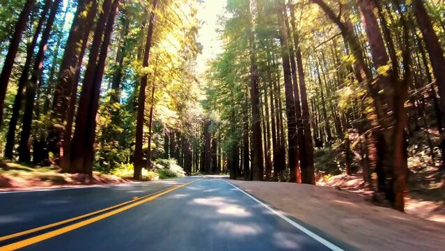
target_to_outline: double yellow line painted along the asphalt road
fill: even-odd
[[[25,234],[35,233],[36,231],[49,229],[51,227],[56,227],[56,226],[63,225],[63,224],[69,223],[69,222],[74,222],[76,220],[81,220],[81,219],[84,219],[84,218],[88,218],[89,216],[92,216],[92,215],[97,215],[97,214],[109,211],[108,213],[97,215],[97,216],[95,216],[93,218],[89,218],[87,220],[83,220],[81,222],[77,222],[77,223],[75,223],[73,225],[69,225],[67,227],[62,227],[62,228],[56,229],[54,231],[49,231],[49,232],[47,232],[45,234],[40,234],[38,236],[27,238],[27,239],[25,239],[23,241],[17,241],[16,243],[11,243],[9,245],[5,245],[3,247],[0,247],[0,251],[17,250],[19,248],[24,248],[26,246],[32,245],[34,243],[38,243],[40,241],[45,241],[45,240],[47,240],[49,238],[52,238],[54,236],[65,234],[68,231],[72,231],[74,229],[78,229],[80,227],[84,227],[86,225],[90,225],[93,222],[97,222],[97,221],[102,220],[104,218],[108,218],[111,215],[115,215],[117,213],[121,213],[123,211],[127,211],[128,209],[134,208],[135,206],[139,206],[140,204],[143,204],[143,203],[145,203],[147,201],[153,201],[153,199],[156,199],[157,197],[161,197],[162,195],[165,195],[165,194],[167,194],[169,192],[172,192],[173,190],[176,190],[178,188],[182,188],[182,187],[184,187],[186,185],[189,185],[189,184],[194,183],[195,181],[199,181],[201,179],[202,178],[199,178],[199,179],[196,179],[194,181],[190,181],[190,182],[184,183],[182,185],[175,186],[173,188],[167,188],[167,189],[164,189],[164,190],[161,190],[161,191],[158,191],[158,192],[153,192],[152,194],[143,196],[143,197],[141,197],[139,199],[134,199],[134,200],[131,200],[131,201],[125,201],[125,202],[123,202],[121,204],[117,204],[115,206],[110,206],[108,208],[103,208],[101,210],[94,211],[92,213],[86,213],[84,215],[79,215],[79,216],[77,216],[75,218],[70,218],[68,220],[62,220],[60,222],[55,222],[55,223],[52,223],[52,224],[49,224],[49,225],[45,225],[45,226],[42,226],[42,227],[36,227],[34,229],[21,231],[21,232],[15,233],[15,234],[7,235],[7,236],[1,236],[0,237],[0,241],[6,241],[6,240],[8,240],[10,238],[24,236]],[[113,210],[115,208],[117,208],[117,209]]]

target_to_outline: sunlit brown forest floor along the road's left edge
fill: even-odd
[[[132,182],[130,178],[122,178],[100,172],[93,172],[93,176],[89,176],[86,174],[63,174],[59,171],[56,167],[27,167],[12,162],[0,161],[0,191]]]

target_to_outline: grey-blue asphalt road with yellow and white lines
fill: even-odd
[[[1,251],[346,249],[334,243],[217,177],[0,192]]]

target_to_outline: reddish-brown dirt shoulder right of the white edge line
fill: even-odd
[[[230,181],[359,250],[444,250],[445,223],[375,206],[364,195],[297,183]]]

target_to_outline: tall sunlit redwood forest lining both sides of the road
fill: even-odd
[[[3,162],[70,174],[359,175],[404,211],[445,187],[445,2],[0,0]],[[415,181],[422,183],[424,181]]]

